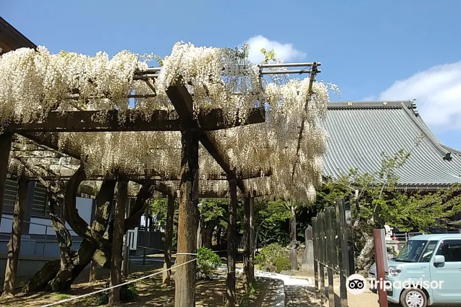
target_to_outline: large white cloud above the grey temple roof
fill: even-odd
[[[415,99],[432,128],[461,130],[461,61],[437,65],[405,80],[395,81],[379,100]]]

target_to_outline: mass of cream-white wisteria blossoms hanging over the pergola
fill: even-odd
[[[149,119],[157,109],[174,109],[166,91],[179,82],[193,96],[195,114],[220,108],[225,120],[235,122],[237,116],[245,121],[255,107],[264,108],[264,123],[211,135],[239,173],[272,171],[270,177],[245,180],[248,190],[313,200],[326,147],[319,121],[329,102],[328,84],[314,82],[310,95],[308,79],[274,76],[266,83],[245,52],[183,42],[165,57],[151,86],[133,78],[147,67],[142,57],[129,51],[112,58],[101,52],[94,57],[50,54],[43,47],[6,53],[0,57],[0,131],[12,121],[26,123],[52,111],[75,109],[101,111],[101,116],[117,109],[121,123],[127,120],[127,109],[135,111],[131,116]],[[137,98],[130,100],[129,95]],[[89,174],[117,170],[162,178],[179,177],[180,140],[179,132],[59,134],[59,145],[80,152]],[[199,155],[201,179],[223,172],[205,149],[200,148]],[[53,171],[61,167],[62,159],[47,159],[39,163]],[[200,188],[221,193],[228,187],[226,181],[213,181]]]

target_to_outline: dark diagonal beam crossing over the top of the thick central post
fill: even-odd
[[[193,100],[191,94],[187,91],[184,85],[181,85],[180,82],[174,86],[170,86],[166,90],[166,94],[170,98],[173,106],[176,109],[179,117],[187,125],[195,125],[200,128],[203,124],[203,118],[198,116],[197,119],[194,119],[193,116]],[[261,111],[262,112],[262,111]],[[216,162],[221,166],[221,168],[226,172],[229,179],[237,179],[237,176],[234,172],[234,169],[231,168],[231,163],[229,158],[222,155],[216,144],[215,138],[208,133],[207,131],[202,131],[199,135],[200,143],[203,147],[208,150],[209,154],[216,160]],[[237,179],[237,186],[242,192],[245,192],[245,186],[241,179]]]

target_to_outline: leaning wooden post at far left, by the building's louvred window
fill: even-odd
[[[14,296],[14,289],[17,276],[17,266],[19,262],[19,249],[21,245],[21,234],[23,230],[23,219],[26,200],[28,199],[27,188],[29,180],[24,177],[19,178],[16,201],[13,211],[13,226],[11,229],[10,242],[8,242],[8,258],[5,268],[5,283],[2,296]]]

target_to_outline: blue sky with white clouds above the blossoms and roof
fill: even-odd
[[[461,149],[461,1],[6,1],[0,14],[37,45],[169,54],[176,41],[275,48],[321,61],[341,100],[413,99],[445,144]],[[287,45],[288,44],[288,45]],[[332,100],[338,100],[332,97]]]

